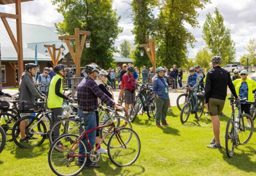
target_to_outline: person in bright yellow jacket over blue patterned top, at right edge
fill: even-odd
[[[247,70],[242,70],[240,72],[241,79],[236,79],[233,81],[233,84],[236,89],[236,94],[240,96],[241,99],[247,98],[248,101],[253,102],[254,101],[254,94],[252,93],[252,90],[255,90],[256,88],[256,82],[254,80],[251,80],[247,78],[248,72]],[[251,104],[248,104],[246,102],[241,102],[241,114],[246,113],[251,115],[250,112]],[[252,124],[248,120],[247,124],[248,128],[252,128]]]

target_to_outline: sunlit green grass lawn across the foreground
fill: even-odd
[[[88,176],[166,176],[166,175],[254,175],[256,172],[256,136],[244,146],[237,146],[232,158],[225,150],[226,123],[231,114],[226,101],[224,114],[220,117],[222,149],[206,147],[212,140],[212,124],[209,116],[200,120],[190,115],[188,122],[181,124],[180,111],[172,108],[167,122],[170,126],[156,127],[155,120],[147,115],[138,116],[132,123],[140,136],[141,152],[138,160],[128,167],[112,164],[108,154],[101,154],[98,169],[84,169],[80,175]],[[255,132],[256,130],[254,130]],[[102,144],[104,148],[104,144]],[[22,149],[7,142],[0,154],[1,175],[54,175],[48,165],[49,142],[32,149]]]

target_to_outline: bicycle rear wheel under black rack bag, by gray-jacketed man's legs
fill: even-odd
[[[20,133],[20,122],[26,120],[28,125],[26,126],[25,134],[27,140],[20,141],[21,133]],[[44,122],[40,121],[39,118],[35,116],[25,116],[20,118],[12,128],[12,139],[14,140],[15,144],[20,148],[32,148],[34,146],[40,146],[46,136],[47,130]]]

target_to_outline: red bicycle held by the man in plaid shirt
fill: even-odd
[[[88,157],[90,157],[92,162],[97,162],[100,159],[100,153],[97,150],[104,138],[111,131],[113,131],[113,134],[108,142],[108,156],[111,162],[116,166],[122,167],[132,165],[138,159],[141,148],[138,134],[130,128],[116,128],[113,119],[114,112],[109,109],[107,109],[107,112],[110,114],[111,124],[98,126],[88,131],[83,130],[80,136],[65,134],[54,141],[48,152],[48,163],[55,174],[60,176],[74,176],[79,174],[86,165],[86,158]],[[89,132],[104,127],[109,127],[109,129],[100,140],[98,146],[95,150],[92,150],[92,146],[88,142],[90,152],[87,152],[86,144],[82,138],[88,140],[87,134]],[[64,144],[64,149],[58,148],[58,142]],[[84,148],[83,153],[79,153],[80,147]],[[77,164],[78,157],[85,158],[84,162]]]

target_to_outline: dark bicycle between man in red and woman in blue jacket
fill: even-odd
[[[132,104],[129,114],[129,121],[134,122],[140,109],[142,109],[142,114],[145,111],[147,112],[148,118],[155,118],[156,102],[153,88],[147,88],[145,84],[142,84],[142,86],[135,82],[134,84],[140,87],[140,90],[135,98],[134,103]]]

